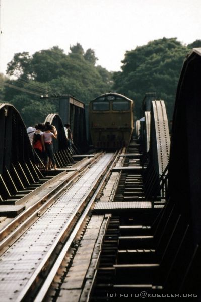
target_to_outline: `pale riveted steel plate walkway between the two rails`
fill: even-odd
[[[0,257],[0,280],[4,278],[3,281],[8,284],[5,290],[0,282],[0,296],[4,295],[5,301],[17,300],[60,231],[89,195],[112,157],[112,153],[107,153],[100,158]]]

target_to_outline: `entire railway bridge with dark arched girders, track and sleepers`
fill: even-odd
[[[154,95],[129,146],[114,152],[86,152],[79,131],[69,149],[60,116],[47,115],[56,171],[38,168],[20,114],[0,105],[1,301],[200,300],[200,79],[193,49],[171,140]],[[64,96],[63,106],[64,122],[82,126],[82,103]]]

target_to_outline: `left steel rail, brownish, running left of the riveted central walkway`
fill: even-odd
[[[2,230],[0,230],[0,254],[5,252],[4,247],[8,245],[12,240],[17,240],[18,237],[22,235],[22,231],[26,231],[26,227],[30,226],[31,222],[35,222],[46,209],[55,201],[56,198],[64,190],[66,190],[69,186],[76,181],[76,179],[83,174],[89,166],[91,166],[94,162],[99,159],[101,153],[97,154],[91,161],[84,164],[79,170],[75,170],[75,172],[71,175],[67,175],[66,178],[58,184],[55,188],[53,188],[50,192],[48,192],[45,196],[43,196],[40,200],[38,200],[34,205],[27,208],[24,212],[19,214],[16,218],[14,218],[8,225],[6,225]],[[56,180],[58,179],[58,175],[56,176]],[[38,190],[40,189],[40,190]],[[42,191],[42,186],[37,188],[37,193]],[[34,192],[34,191],[33,191]],[[56,192],[56,193],[55,193]],[[32,192],[31,192],[32,193]]]

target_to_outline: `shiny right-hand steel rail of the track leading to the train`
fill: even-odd
[[[82,216],[80,217],[79,221],[77,222],[73,232],[71,233],[70,237],[68,238],[68,240],[66,241],[65,245],[63,246],[58,258],[56,259],[53,267],[51,268],[51,271],[49,272],[45,282],[43,283],[42,287],[40,288],[37,296],[34,299],[34,302],[41,302],[43,301],[43,299],[45,298],[49,288],[51,287],[51,284],[54,282],[54,278],[56,277],[57,272],[59,271],[59,268],[62,266],[62,262],[65,261],[65,255],[69,252],[69,249],[72,246],[72,243],[74,242],[77,234],[79,233],[80,229],[82,228],[82,224],[85,221],[87,215],[89,214],[91,208],[93,207],[93,204],[97,198],[97,195],[100,193],[104,183],[106,182],[113,166],[116,163],[117,158],[119,157],[120,154],[120,150],[118,152],[115,153],[114,155],[114,159],[111,162],[111,165],[107,168],[107,172],[104,175],[103,179],[101,180],[100,184],[98,185],[96,191],[94,192],[92,198],[90,199],[87,207],[85,208]]]

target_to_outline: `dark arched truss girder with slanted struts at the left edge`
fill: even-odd
[[[40,185],[43,175],[34,162],[25,124],[11,104],[0,104],[0,202],[16,204]]]

